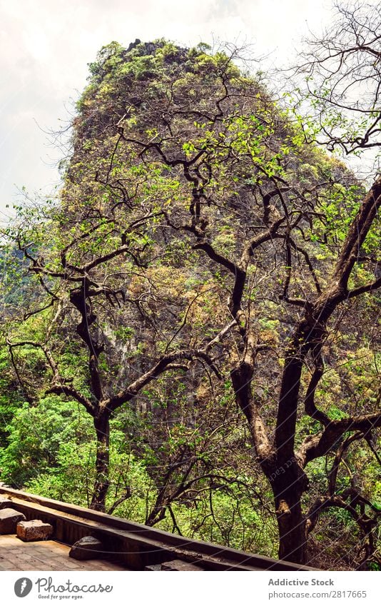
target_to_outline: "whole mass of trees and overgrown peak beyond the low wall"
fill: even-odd
[[[1,244],[2,482],[380,568],[381,180],[335,153],[380,146],[380,11],[361,15],[278,97],[233,47],[99,51],[59,198]]]

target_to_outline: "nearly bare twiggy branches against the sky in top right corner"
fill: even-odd
[[[381,11],[366,2],[335,9],[330,28],[307,41],[296,72],[307,76],[303,98],[315,109],[320,141],[358,156],[380,148]]]

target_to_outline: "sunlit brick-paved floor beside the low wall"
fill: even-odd
[[[70,547],[56,541],[23,542],[0,536],[0,570],[127,570],[106,560],[73,560]]]

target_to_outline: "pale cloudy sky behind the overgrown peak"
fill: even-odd
[[[332,1],[0,0],[0,223],[23,187],[34,197],[59,186],[63,151],[49,133],[67,126],[101,46],[218,39],[285,64],[329,23]]]

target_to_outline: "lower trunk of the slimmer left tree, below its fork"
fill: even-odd
[[[91,499],[91,509],[106,510],[106,496],[109,486],[108,469],[110,463],[110,418],[108,414],[94,418],[96,430],[96,480]]]

